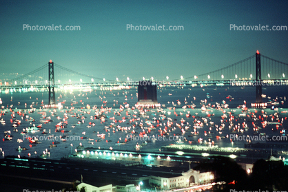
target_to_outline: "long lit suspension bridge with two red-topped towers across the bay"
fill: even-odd
[[[48,72],[49,73],[48,73]],[[161,81],[163,85],[255,85],[256,103],[262,102],[262,85],[288,85],[288,64],[274,58],[261,55],[260,52],[228,65],[218,70],[205,74],[193,75],[168,81]],[[141,79],[142,80],[142,79]],[[144,80],[144,79],[143,79]],[[153,78],[150,78],[153,81]],[[159,84],[159,83],[157,83]],[[49,103],[55,103],[54,89],[65,87],[117,87],[135,86],[135,81],[119,81],[99,78],[82,74],[62,67],[51,60],[36,70],[16,78],[0,82],[1,89],[30,89],[44,88],[49,92]]]

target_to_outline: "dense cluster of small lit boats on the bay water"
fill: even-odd
[[[86,97],[87,94],[78,96]],[[115,96],[121,96],[121,94],[115,94]],[[123,96],[125,99],[129,98],[128,92],[123,92]],[[61,101],[61,98],[59,97],[58,100],[63,105],[68,103],[67,100]],[[76,96],[74,98],[76,99]],[[101,146],[108,148],[113,145],[120,147],[132,143],[136,150],[141,150],[143,147],[149,146],[150,142],[161,142],[160,137],[165,138],[164,141],[168,140],[167,142],[174,144],[211,146],[218,140],[229,142],[229,134],[238,136],[245,133],[267,134],[265,131],[267,127],[279,134],[285,134],[286,129],[282,125],[287,118],[283,118],[278,112],[268,114],[264,110],[247,109],[246,103],[239,105],[237,110],[229,109],[229,102],[234,100],[232,96],[227,96],[222,103],[212,104],[209,102],[212,98],[209,93],[207,93],[206,99],[200,100],[200,107],[197,109],[196,97],[192,97],[189,101],[191,103],[187,98],[170,100],[167,105],[172,107],[165,109],[161,107],[156,109],[129,107],[124,100],[123,104],[119,104],[119,109],[116,109],[105,107],[107,104],[105,96],[99,96],[103,102],[101,107],[95,105],[88,107],[88,105],[84,105],[83,100],[79,100],[78,103],[73,99],[70,103],[71,106],[63,106],[63,109],[32,108],[10,109],[9,111],[6,109],[4,114],[11,114],[11,125],[16,135],[19,126],[23,127],[22,122],[29,124],[28,127],[22,129],[20,135],[30,134],[31,136],[27,140],[18,138],[17,142],[24,145],[29,142],[29,146],[32,147],[41,144],[39,136],[45,136],[47,140],[51,140],[49,147],[60,146],[62,142],[67,141],[68,136],[77,135],[81,136],[81,140],[85,140],[89,145],[101,142]],[[118,100],[113,102],[118,104]],[[81,105],[81,107],[75,109],[76,105]],[[1,111],[2,116],[3,111]],[[38,117],[34,119],[28,114],[34,114],[34,118],[36,114],[39,114],[40,119]],[[4,118],[1,118],[0,122],[3,126],[7,126]],[[4,132],[3,140],[13,139],[11,131],[12,129]],[[54,136],[59,136],[59,140],[53,140]],[[112,146],[108,144],[110,142],[113,143]],[[247,140],[247,142],[251,142],[251,140]],[[29,147],[27,148],[29,149]],[[17,151],[28,149],[18,147]],[[45,151],[45,154],[48,152],[50,153],[50,151]]]

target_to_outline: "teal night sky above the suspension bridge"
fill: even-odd
[[[159,81],[194,76],[261,54],[288,63],[288,31],[234,31],[288,25],[287,1],[0,1],[1,73],[28,73],[50,59],[99,78]],[[79,25],[78,31],[23,25]],[[126,25],[182,25],[131,31]]]

